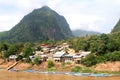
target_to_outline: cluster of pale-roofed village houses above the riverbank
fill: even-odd
[[[59,46],[51,47],[48,44],[41,44],[40,51],[34,51],[34,55],[29,56],[30,60],[34,62],[35,58],[39,57],[41,62],[46,62],[51,60],[53,62],[64,62],[64,63],[73,63],[80,64],[81,59],[85,58],[86,55],[90,54],[90,51],[80,50],[78,53],[75,52],[74,49],[69,48],[67,43],[63,43]],[[21,52],[22,55],[22,52]],[[18,58],[17,55],[10,55],[9,61],[16,60]],[[25,60],[25,58],[23,58]]]

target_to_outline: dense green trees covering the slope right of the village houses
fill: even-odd
[[[120,61],[120,32],[75,38],[69,44],[76,51],[91,51],[82,64],[92,66],[106,61]]]

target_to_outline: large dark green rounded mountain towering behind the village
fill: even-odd
[[[72,31],[65,18],[48,6],[34,9],[7,33],[0,34],[0,41],[37,42],[41,40],[62,40],[72,37]]]

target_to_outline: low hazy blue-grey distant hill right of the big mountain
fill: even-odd
[[[98,35],[98,34],[101,34],[99,32],[86,31],[86,30],[73,30],[72,33],[76,37],[82,37],[82,36],[86,36],[86,35]]]

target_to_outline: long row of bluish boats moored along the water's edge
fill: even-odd
[[[5,69],[2,69],[5,70]],[[19,69],[10,69],[6,70],[8,72],[27,72],[27,73],[37,73],[37,74],[62,74],[62,75],[71,75],[71,76],[78,76],[78,77],[114,77],[119,76],[120,74],[110,74],[110,73],[83,73],[83,72],[60,72],[60,71],[40,71],[40,70],[19,70]]]

